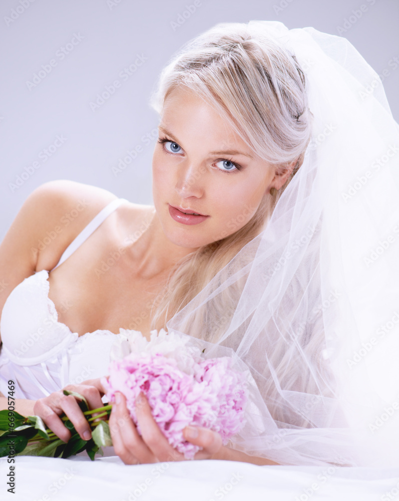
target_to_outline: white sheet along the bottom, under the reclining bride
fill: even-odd
[[[256,466],[197,460],[125,465],[117,456],[69,459],[17,456],[15,495],[0,459],[0,499],[18,501],[216,501],[224,499],[386,501],[399,496],[398,468]]]

